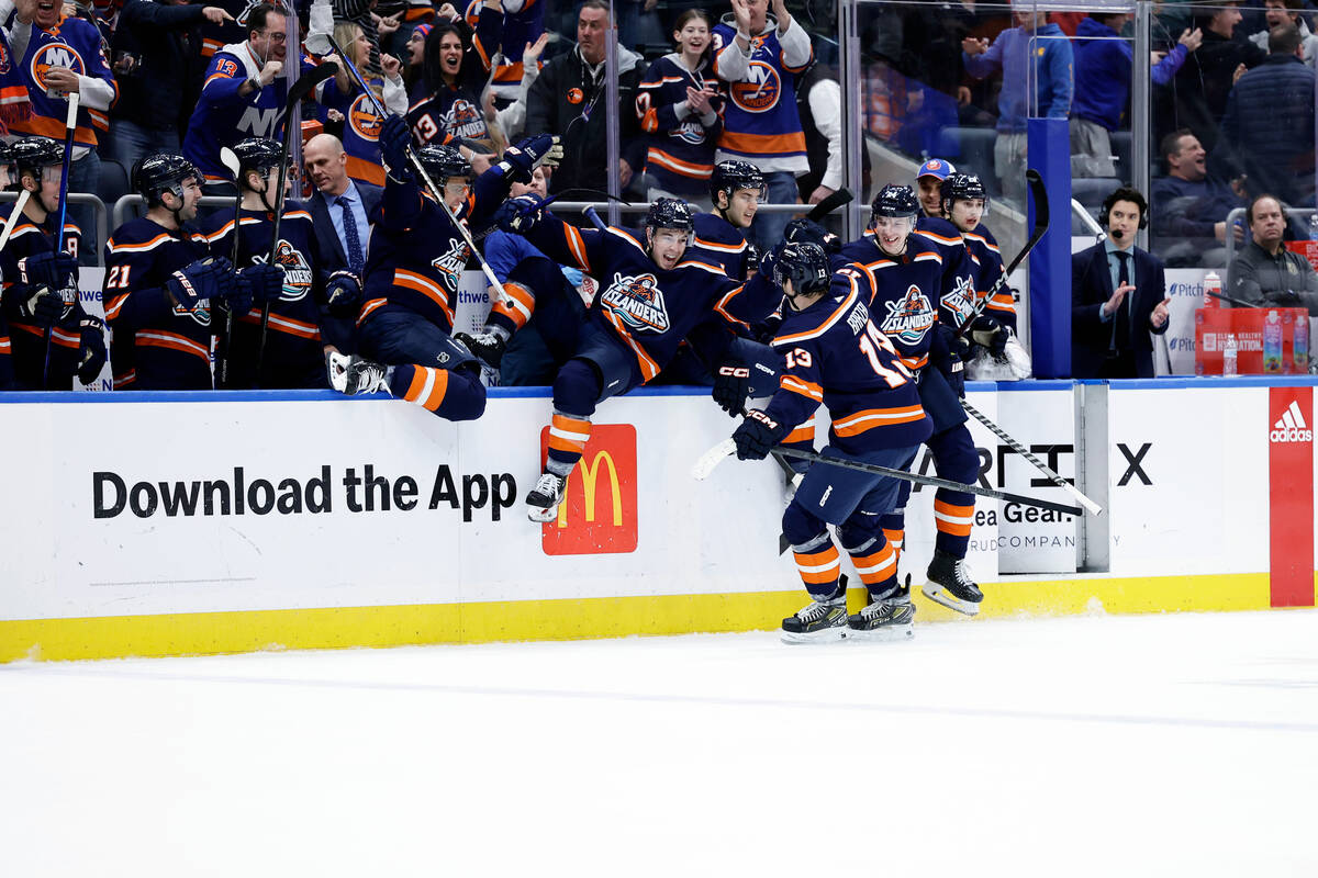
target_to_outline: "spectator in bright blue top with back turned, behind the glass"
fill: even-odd
[[[983,79],[1002,72],[998,97],[998,141],[994,143],[994,172],[1002,180],[1003,195],[1021,201],[1025,192],[1025,120],[1028,117],[1066,118],[1070,113],[1072,46],[1061,28],[1048,24],[1048,13],[1033,7],[1014,12],[1015,28],[987,39],[966,38],[961,43],[966,72]]]

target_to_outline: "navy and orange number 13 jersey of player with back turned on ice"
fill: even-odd
[[[805,311],[784,309],[772,341],[783,355],[778,392],[764,413],[783,425],[808,423],[828,408],[829,441],[846,454],[919,445],[933,433],[911,373],[871,319],[863,272],[844,269],[841,283]]]

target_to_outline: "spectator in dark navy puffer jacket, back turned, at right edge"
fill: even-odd
[[[1314,203],[1314,84],[1300,54],[1300,30],[1278,25],[1268,36],[1268,57],[1240,76],[1222,120],[1222,175],[1243,174],[1246,188],[1282,201]],[[1217,166],[1218,162],[1214,162]]]

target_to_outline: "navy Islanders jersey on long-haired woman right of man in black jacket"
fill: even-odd
[[[650,65],[637,87],[637,117],[647,136],[646,171],[655,186],[667,192],[704,195],[714,171],[714,143],[724,132],[724,122],[716,112],[713,122],[705,125],[687,109],[688,87],[718,91],[718,79],[708,62],[691,72],[683,67],[677,53],[664,55]]]

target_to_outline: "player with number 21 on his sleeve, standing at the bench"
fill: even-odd
[[[202,172],[171,153],[133,167],[133,188],[146,216],[115,229],[105,244],[105,317],[113,330],[109,362],[115,390],[211,390],[211,336],[227,305],[246,313],[254,297],[283,287],[274,266],[233,271],[191,222]]]

